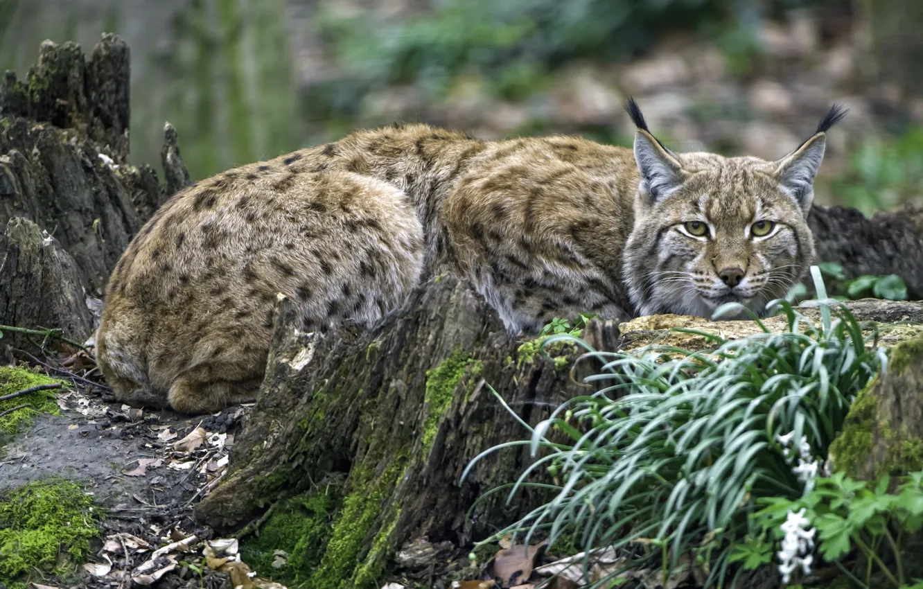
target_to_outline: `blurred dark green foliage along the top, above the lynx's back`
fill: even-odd
[[[772,3],[771,3],[772,4]],[[438,99],[462,72],[477,71],[499,98],[521,100],[571,60],[612,62],[639,54],[665,30],[742,30],[743,0],[443,0],[382,22],[321,6],[318,28],[348,87],[414,84]],[[748,32],[734,38],[751,39]],[[361,99],[362,92],[344,88]],[[343,106],[341,104],[341,106]]]

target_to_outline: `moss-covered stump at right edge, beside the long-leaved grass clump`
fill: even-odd
[[[923,470],[923,337],[899,343],[861,391],[830,449],[833,467],[863,480]]]

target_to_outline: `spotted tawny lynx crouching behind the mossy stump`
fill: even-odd
[[[767,162],[674,152],[627,110],[633,150],[394,125],[187,187],[114,268],[103,374],[125,403],[219,410],[254,397],[277,294],[304,330],[368,327],[443,271],[511,332],[585,312],[709,316],[730,301],[764,313],[814,258],[813,180],[845,111]]]

